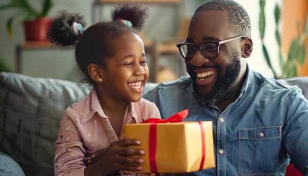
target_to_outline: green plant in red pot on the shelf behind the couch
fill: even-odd
[[[26,41],[48,41],[46,37],[47,29],[51,18],[48,13],[54,6],[53,0],[40,0],[41,9],[35,9],[30,0],[9,0],[8,3],[0,5],[2,9],[18,9],[6,22],[6,30],[9,36],[12,36],[12,22],[18,16],[22,16]]]

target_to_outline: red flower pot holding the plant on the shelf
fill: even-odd
[[[26,41],[48,41],[46,34],[50,23],[51,18],[48,17],[24,21]]]

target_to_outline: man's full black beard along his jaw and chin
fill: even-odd
[[[240,62],[239,54],[232,55],[232,59],[233,59],[233,63],[227,67],[227,72],[224,74],[223,77],[218,75],[214,88],[207,95],[200,96],[197,94],[197,92],[195,91],[196,89],[195,87],[197,85],[195,81],[193,80],[192,93],[195,96],[195,101],[197,102],[199,106],[207,107],[210,104],[216,104],[229,92],[230,88],[235,83],[235,81],[237,80],[241,72],[241,62]]]

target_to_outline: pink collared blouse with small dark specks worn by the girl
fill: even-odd
[[[119,139],[123,139],[124,124],[140,123],[152,117],[161,118],[153,102],[144,98],[130,102]],[[55,176],[84,176],[84,160],[89,159],[85,156],[91,156],[119,139],[100,106],[95,88],[92,88],[88,96],[68,107],[63,114],[56,141]]]

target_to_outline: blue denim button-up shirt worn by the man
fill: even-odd
[[[247,65],[238,98],[223,112],[197,105],[190,77],[161,83],[144,98],[162,118],[188,109],[184,121],[213,121],[216,168],[185,176],[284,176],[289,161],[308,176],[308,100],[301,92]]]

